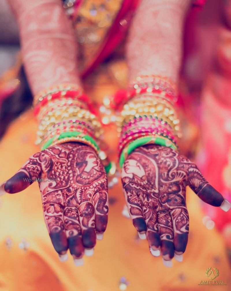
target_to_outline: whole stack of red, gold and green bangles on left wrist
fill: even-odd
[[[34,115],[38,120],[36,144],[42,150],[68,141],[85,143],[95,149],[107,173],[115,172],[115,166],[101,150],[102,125],[80,86],[62,83],[38,93]]]

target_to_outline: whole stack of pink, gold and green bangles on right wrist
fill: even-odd
[[[135,148],[153,143],[177,150],[180,137],[176,86],[161,76],[140,76],[131,84],[118,118],[120,168]],[[114,108],[119,103],[114,99]]]

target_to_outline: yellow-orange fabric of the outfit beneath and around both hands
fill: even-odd
[[[94,84],[94,85],[93,85]],[[86,80],[86,91],[94,100],[115,92],[117,86],[107,70]],[[115,126],[106,127],[106,140],[116,157]],[[36,123],[32,111],[24,113],[8,128],[0,143],[0,181],[10,178],[26,159],[39,151],[34,145]],[[0,206],[0,290],[2,291],[117,291],[121,277],[128,281],[128,291],[231,290],[230,267],[221,235],[202,224],[200,200],[188,189],[190,215],[189,243],[184,261],[173,267],[153,257],[147,241],[138,239],[131,221],[122,213],[125,205],[121,184],[109,191],[108,228],[97,241],[93,257],[84,257],[84,265],[75,267],[71,255],[60,262],[54,251],[45,223],[38,184],[18,194],[5,194]],[[28,245],[22,249],[22,240]],[[12,244],[12,245],[11,245]],[[21,248],[20,248],[21,247]],[[198,286],[209,280],[208,267],[219,270],[217,279],[226,286]]]

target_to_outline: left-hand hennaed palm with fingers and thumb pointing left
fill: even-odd
[[[91,255],[96,238],[102,239],[108,220],[108,185],[95,150],[77,142],[55,145],[30,157],[1,185],[16,193],[38,180],[45,223],[61,260],[67,249],[75,263]]]

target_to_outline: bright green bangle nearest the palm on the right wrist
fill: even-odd
[[[165,137],[160,137],[159,135],[153,135],[153,136],[146,136],[146,137],[141,137],[138,138],[134,141],[132,141],[131,143],[129,143],[128,146],[126,146],[121,155],[120,155],[120,168],[122,168],[123,163],[125,162],[125,159],[127,158],[127,156],[134,151],[136,148],[138,148],[141,145],[146,145],[146,144],[150,144],[150,143],[154,143],[157,145],[163,145],[166,146],[168,148],[172,148],[173,150],[177,150],[177,147],[175,146],[175,144],[173,142],[171,142],[168,138]]]

